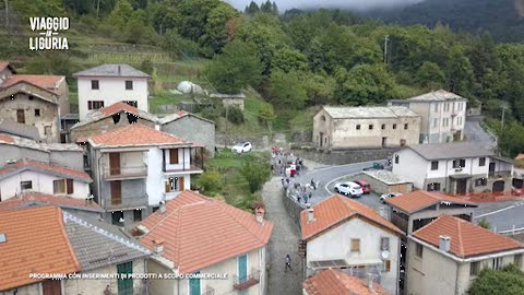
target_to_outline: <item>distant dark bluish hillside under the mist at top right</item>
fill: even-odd
[[[393,11],[372,11],[368,16],[402,25],[448,24],[455,31],[490,33],[499,42],[524,40],[523,0],[426,0]]]

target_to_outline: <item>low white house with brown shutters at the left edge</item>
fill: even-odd
[[[92,181],[83,170],[22,158],[0,168],[0,201],[26,191],[86,199]]]

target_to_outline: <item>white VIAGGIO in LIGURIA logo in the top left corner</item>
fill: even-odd
[[[38,34],[29,37],[31,50],[68,50],[67,37],[60,33],[69,30],[69,17],[29,17],[31,30]]]

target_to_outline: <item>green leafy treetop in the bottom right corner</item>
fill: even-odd
[[[524,294],[524,272],[515,264],[509,264],[502,270],[484,269],[473,282],[472,295],[522,295]]]

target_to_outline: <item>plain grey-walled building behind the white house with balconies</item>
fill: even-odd
[[[158,120],[162,131],[205,146],[215,155],[215,122],[183,110]],[[195,132],[196,131],[196,132]]]

